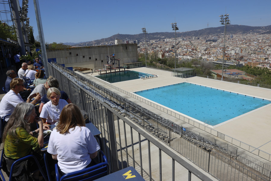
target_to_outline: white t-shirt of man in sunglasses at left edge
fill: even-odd
[[[5,115],[11,114],[18,103],[24,102],[20,94],[15,94],[13,90],[10,90],[1,100],[0,102],[0,116],[1,119],[4,118]],[[8,121],[8,119],[5,119]]]

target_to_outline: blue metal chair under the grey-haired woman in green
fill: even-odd
[[[2,159],[4,159],[4,158],[3,158],[3,155],[4,155],[4,149],[2,150],[1,160],[0,160],[0,175],[1,175],[2,179],[3,179],[3,181],[6,181],[6,180],[5,180],[5,177],[4,177],[3,173],[2,173],[2,169],[3,169]],[[39,168],[39,171],[41,172],[43,178],[44,178],[45,180],[47,180],[47,176],[46,176],[45,173],[43,172],[42,167],[40,166],[40,164],[39,164],[37,158],[36,158],[34,155],[27,155],[27,156],[25,156],[25,157],[22,157],[22,158],[20,158],[20,159],[18,159],[18,160],[16,160],[16,161],[14,161],[14,163],[11,165],[9,180],[12,180],[12,174],[13,174],[14,166],[15,166],[17,163],[20,163],[20,161],[28,160],[28,159],[30,159],[30,158],[33,158],[33,159],[35,160],[35,162],[36,162],[36,164],[37,164],[37,166],[38,166],[38,168]]]

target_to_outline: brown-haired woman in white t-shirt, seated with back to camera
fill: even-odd
[[[58,160],[63,174],[94,165],[99,144],[85,127],[83,116],[75,104],[66,105],[60,115],[57,128],[51,132],[47,152]]]

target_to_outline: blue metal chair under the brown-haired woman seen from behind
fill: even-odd
[[[55,176],[57,181],[80,181],[80,180],[96,180],[109,174],[109,164],[104,152],[100,151],[102,163],[83,170],[67,173],[60,178],[58,172],[58,164],[55,164]]]

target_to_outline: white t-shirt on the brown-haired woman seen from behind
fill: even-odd
[[[69,129],[69,132],[60,134],[54,129],[47,149],[50,154],[58,154],[58,166],[64,173],[86,168],[91,162],[89,154],[100,149],[88,128],[76,126],[74,130]]]

